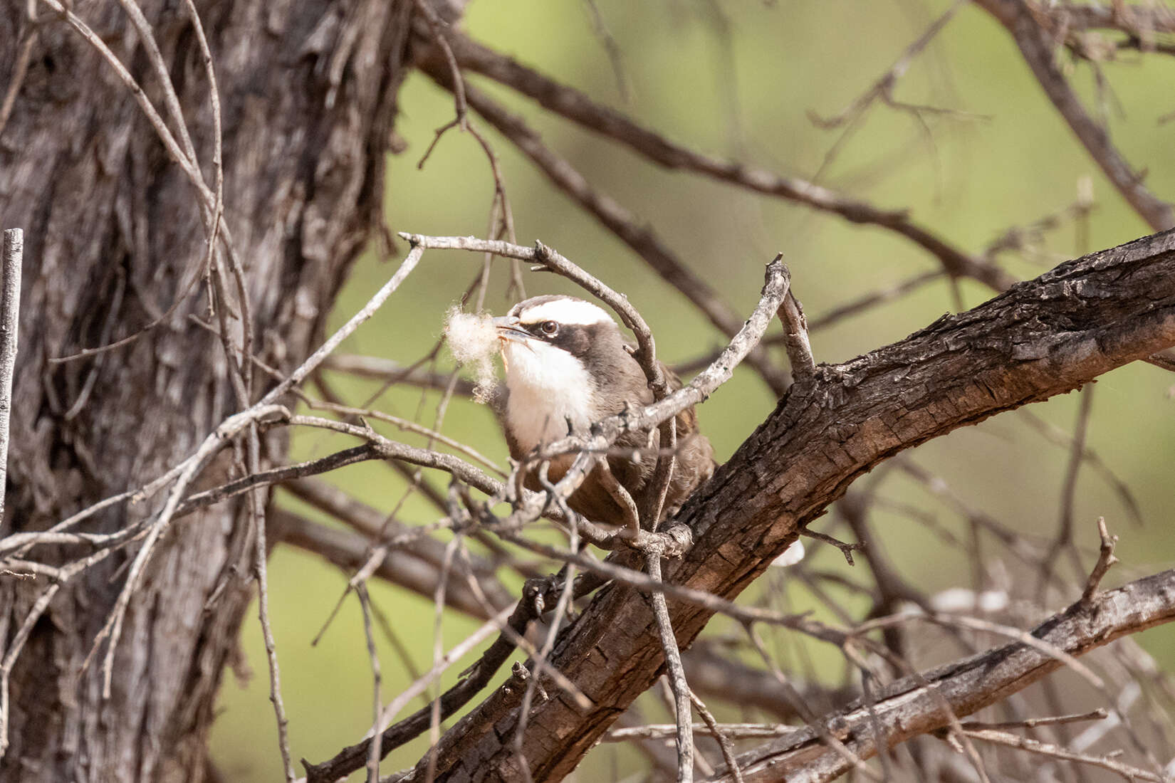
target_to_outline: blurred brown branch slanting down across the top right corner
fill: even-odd
[[[1107,129],[1089,116],[1081,104],[1081,99],[1056,65],[1052,36],[1041,27],[1033,6],[1025,0],[978,0],[976,5],[1007,28],[1048,100],[1069,123],[1074,135],[1127,203],[1155,231],[1175,227],[1171,205],[1147,190],[1142,184],[1142,175],[1122,157]]]

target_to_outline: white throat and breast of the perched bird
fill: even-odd
[[[506,426],[526,452],[553,443],[572,430],[584,432],[596,420],[595,385],[583,364],[562,349],[539,340],[506,343],[503,350]]]

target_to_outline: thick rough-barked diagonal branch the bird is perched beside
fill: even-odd
[[[694,547],[666,578],[737,596],[848,485],[905,448],[1001,411],[1080,387],[1175,344],[1175,231],[1065,263],[971,311],[797,383],[734,457],[683,508]],[[1163,593],[1170,600],[1169,592]],[[670,601],[690,643],[710,620]],[[436,779],[559,779],[663,666],[647,601],[603,588],[562,634],[551,662],[592,701],[558,689],[512,747],[521,689],[506,686],[441,743]],[[422,762],[423,764],[423,762]],[[423,779],[423,765],[408,779]]]

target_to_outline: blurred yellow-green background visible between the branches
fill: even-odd
[[[1088,248],[1080,247],[1082,235],[1076,225],[1062,220],[1033,243],[1030,252],[999,257],[1019,277],[1036,276],[1085,250],[1148,234],[1045,99],[1003,29],[969,6],[958,12],[895,89],[902,101],[956,113],[924,114],[924,128],[909,114],[878,104],[854,127],[831,164],[822,167],[841,130],[817,127],[810,113],[832,116],[848,106],[949,5],[907,0],[720,5],[704,0],[597,0],[619,47],[627,97],[618,88],[605,47],[592,32],[585,2],[478,0],[469,7],[466,28],[474,38],[629,113],[674,141],[779,174],[811,178],[824,168],[822,184],[879,207],[909,208],[919,222],[973,252],[1010,227],[1063,211],[1076,200],[1079,182],[1089,177],[1096,208],[1088,218]],[[1175,60],[1129,53],[1120,58],[1103,66],[1112,94],[1095,89],[1088,65],[1072,68],[1070,79],[1093,112],[1106,108],[1115,142],[1136,168],[1148,170],[1150,189],[1173,198],[1175,123],[1160,124],[1159,117],[1175,109],[1170,89]],[[658,169],[616,144],[545,116],[496,85],[474,76],[470,80],[524,115],[593,188],[653,227],[684,263],[739,312],[753,306],[763,264],[777,251],[786,254],[794,291],[810,319],[938,268],[934,258],[887,231]],[[494,188],[475,140],[451,131],[423,170],[416,167],[434,129],[452,117],[451,96],[414,74],[400,103],[397,131],[408,142],[408,150],[394,156],[389,166],[390,225],[422,234],[485,236]],[[721,344],[720,335],[683,297],[569,198],[552,190],[505,140],[484,122],[475,122],[501,157],[521,243],[542,239],[626,292],[652,325],[665,360],[686,360]],[[330,329],[387,279],[403,250],[400,248],[389,263],[381,263],[374,252],[360,261],[338,299]],[[415,360],[438,337],[445,309],[457,301],[479,264],[474,254],[428,252],[401,291],[343,350]],[[525,282],[530,295],[571,291],[548,275],[528,275]],[[501,312],[509,306],[505,290],[502,264],[495,269],[488,309]],[[989,296],[979,285],[961,284],[965,306]],[[817,359],[848,359],[900,339],[955,306],[949,285],[940,279],[895,304],[815,332]],[[451,364],[448,358],[445,362]],[[375,383],[338,374],[331,380],[355,404],[377,389]],[[1136,526],[1113,487],[1092,471],[1082,471],[1075,507],[1080,541],[1095,545],[1093,520],[1099,515],[1104,515],[1122,538],[1119,555],[1123,562],[1112,572],[1109,583],[1170,567],[1175,560],[1169,525],[1170,458],[1175,451],[1173,383],[1175,377],[1169,373],[1136,364],[1107,374],[1095,386],[1089,446],[1130,485],[1144,521]],[[1077,394],[1069,394],[1032,410],[1072,431],[1077,399]],[[425,394],[422,401],[418,392],[396,391],[377,405],[401,416],[419,414],[422,421],[431,424],[436,400],[435,394]],[[700,411],[703,428],[719,458],[728,457],[772,407],[765,386],[746,370],[719,390]],[[972,507],[1016,529],[1047,534],[1058,525],[1067,451],[1041,438],[1019,417],[1005,414],[955,432],[919,447],[912,457],[934,470]],[[484,407],[456,401],[444,431],[504,463],[505,446]],[[416,443],[403,433],[394,432],[392,437]],[[310,458],[341,445],[351,444],[316,432],[300,433],[293,455]],[[387,466],[371,463],[329,478],[385,509],[403,488],[403,481]],[[437,486],[443,487],[443,481],[437,480]],[[944,525],[960,529],[958,520],[900,475],[886,479],[884,494],[933,509]],[[289,495],[280,493],[278,499],[315,515]],[[432,521],[436,513],[411,498],[401,518],[423,524]],[[879,512],[873,521],[888,553],[912,582],[931,592],[966,583],[964,575],[969,569],[959,552],[898,514]],[[810,551],[821,568],[847,567],[835,551]],[[310,643],[345,579],[316,558],[288,547],[278,547],[270,561],[270,607],[295,757],[321,761],[355,742],[371,720],[371,671],[352,598],[322,641]],[[773,581],[786,585],[778,578]],[[382,583],[372,583],[371,592],[409,649],[412,666],[427,669],[435,621],[431,601]],[[787,606],[821,612],[807,595],[788,594]],[[474,627],[475,622],[445,613],[445,646]],[[1155,629],[1140,640],[1166,669],[1175,669],[1175,629]],[[241,644],[239,676],[226,676],[221,693],[214,760],[231,781],[280,779],[266,656],[255,613],[246,622]],[[380,646],[387,701],[412,676],[382,637]],[[839,674],[839,660],[828,666]],[[446,686],[461,668],[463,664],[451,669]],[[251,676],[246,676],[250,669]],[[412,709],[419,704],[415,702]],[[411,764],[422,748],[417,742],[396,751],[384,769]],[[632,751],[613,745],[590,756],[579,779],[612,779],[642,764]]]

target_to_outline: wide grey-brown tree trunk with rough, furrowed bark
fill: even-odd
[[[183,4],[140,5],[212,183],[209,86],[187,12]],[[223,104],[226,216],[246,264],[256,353],[289,367],[307,353],[378,218],[411,4],[196,6]],[[31,33],[25,7],[0,7],[5,86],[14,76],[8,53]],[[119,5],[72,8],[161,104]],[[2,533],[45,528],[140,486],[237,405],[219,338],[189,319],[207,317],[206,291],[181,290],[206,249],[193,187],[109,65],[63,20],[39,12],[31,65],[0,137],[0,222],[26,231]],[[51,363],[134,332],[182,296],[175,316],[137,340]],[[267,450],[273,459],[283,445]],[[204,481],[223,478],[229,465],[214,467]],[[12,745],[0,779],[203,778],[216,686],[250,594],[243,508],[201,509],[160,544],[126,620],[108,700],[100,666],[82,669],[82,661],[129,555],[60,590],[12,673]],[[115,531],[153,509],[114,507],[87,529]],[[0,629],[9,634],[0,642],[43,589],[43,580],[0,582]]]

